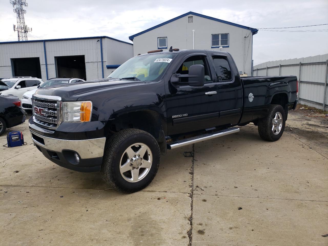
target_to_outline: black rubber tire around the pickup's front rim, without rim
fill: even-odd
[[[144,143],[149,146],[153,162],[149,173],[140,181],[126,181],[119,170],[120,160],[126,148],[134,143]],[[156,139],[149,133],[139,129],[124,129],[106,140],[103,162],[101,165],[102,178],[115,190],[123,193],[133,193],[144,189],[154,179],[160,161],[160,150]]]

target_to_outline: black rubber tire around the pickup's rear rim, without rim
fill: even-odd
[[[272,120],[277,112],[280,112],[282,115],[282,127],[280,132],[275,135],[272,131]],[[258,134],[261,138],[267,141],[277,141],[285,129],[286,116],[285,111],[281,105],[271,104],[268,110],[268,114],[265,118],[258,120]]]

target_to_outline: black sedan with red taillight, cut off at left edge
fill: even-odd
[[[6,128],[14,127],[25,122],[24,111],[17,96],[0,95],[0,135]]]

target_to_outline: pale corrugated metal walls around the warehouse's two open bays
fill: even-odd
[[[48,78],[56,77],[55,57],[84,55],[88,80],[102,78],[101,48],[103,50],[103,71],[106,78],[113,69],[106,65],[121,65],[133,56],[133,45],[109,37],[87,37],[61,40],[45,40]],[[97,40],[99,40],[97,42]],[[0,43],[0,78],[11,77],[12,58],[39,57],[41,77],[47,80],[43,40]]]

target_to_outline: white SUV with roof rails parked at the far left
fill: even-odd
[[[0,95],[14,95],[18,96],[19,100],[22,99],[22,96],[25,92],[37,89],[38,85],[42,85],[43,81],[38,78],[31,76],[26,77],[10,77],[7,79],[2,79],[7,86],[7,90],[0,92]]]

